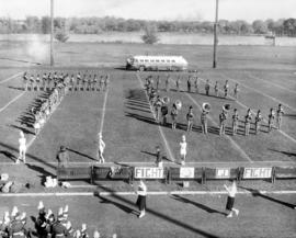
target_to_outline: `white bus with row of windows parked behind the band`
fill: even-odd
[[[173,70],[187,69],[187,61],[183,56],[151,56],[136,55],[126,59],[126,69],[136,70]]]

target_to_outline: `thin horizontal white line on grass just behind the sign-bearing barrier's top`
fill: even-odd
[[[27,162],[29,165],[41,165],[43,162]],[[46,162],[48,165],[57,166],[58,162]],[[122,165],[151,165],[156,167],[155,162],[136,162],[136,161],[114,161],[114,162],[104,162],[103,166],[121,166]],[[186,162],[185,165],[240,165],[240,163],[249,163],[248,161],[192,161],[192,162]],[[263,161],[253,161],[251,165],[260,163],[283,163],[283,165],[296,165],[296,161],[289,160],[289,161],[283,161],[283,160],[263,160]],[[99,165],[96,162],[69,162],[69,165],[87,165],[87,166],[93,166],[93,165]],[[172,161],[164,161],[163,165],[175,165],[175,162]],[[0,166],[18,166],[15,162],[0,162]],[[181,165],[180,165],[181,166]]]

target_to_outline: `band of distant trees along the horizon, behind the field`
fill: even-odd
[[[145,21],[121,18],[55,18],[55,31],[75,34],[100,34],[103,32],[139,32],[153,25],[157,32],[213,33],[214,23],[209,21]],[[0,34],[50,32],[49,16],[26,16],[25,20],[0,19]],[[219,20],[219,34],[251,35],[273,34],[296,36],[296,19],[255,20],[252,23],[237,20]]]

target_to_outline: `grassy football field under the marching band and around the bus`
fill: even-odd
[[[0,47],[0,172],[9,172],[19,181],[34,181],[36,191],[47,174],[55,174],[56,154],[60,145],[69,149],[72,163],[90,165],[96,160],[98,133],[102,131],[106,143],[105,158],[110,165],[153,165],[156,146],[160,146],[170,166],[179,167],[179,141],[183,134],[187,137],[189,155],[186,162],[206,167],[237,166],[295,166],[296,148],[296,49],[294,47],[263,46],[224,46],[219,48],[218,69],[212,69],[212,48],[207,46],[147,46],[141,44],[57,44],[56,67],[46,65],[47,55],[36,57],[29,54],[25,44],[13,43]],[[171,73],[169,92],[163,90],[167,72],[135,72],[121,69],[129,54],[170,54],[184,55],[190,67],[198,70],[200,93],[186,92],[187,72]],[[34,63],[41,63],[36,66]],[[33,128],[26,125],[30,121],[29,110],[46,97],[44,92],[22,90],[21,73],[43,73],[44,71],[62,71],[68,73],[111,75],[111,84],[105,92],[70,91],[52,114],[37,137]],[[147,76],[160,76],[160,95],[170,98],[170,106],[179,99],[182,110],[178,118],[178,129],[160,126],[151,113],[143,83]],[[181,92],[175,91],[174,80],[181,75]],[[219,88],[229,80],[230,94],[236,82],[240,84],[239,100],[206,97],[204,80],[212,83],[216,80]],[[210,91],[214,94],[213,89]],[[221,92],[219,92],[221,94]],[[212,105],[209,134],[201,133],[201,105]],[[227,135],[219,136],[218,114],[225,103],[237,107],[243,116],[247,109],[260,109],[266,120],[270,107],[284,106],[283,127],[281,131],[266,132],[266,122],[262,132],[254,135],[253,125],[249,137],[243,136],[243,123],[237,136],[230,133],[231,122],[227,123]],[[189,106],[195,114],[193,132],[185,132],[185,115]],[[169,118],[169,125],[171,121]],[[27,151],[27,166],[15,166],[18,156],[19,129],[25,132],[32,144]],[[175,160],[171,162],[170,160]],[[254,183],[265,186],[264,183]],[[280,183],[281,184],[281,183]],[[278,184],[277,184],[278,185]],[[124,186],[124,185],[123,185]],[[250,185],[253,188],[253,185]],[[283,185],[284,188],[285,185]],[[110,185],[106,185],[110,188]],[[196,184],[197,190],[212,190],[210,185]],[[220,188],[220,185],[218,186]],[[153,190],[167,190],[157,182],[149,185]],[[173,188],[180,190],[181,188]],[[280,189],[270,184],[267,189]],[[289,189],[295,189],[292,182]],[[130,190],[130,188],[129,188]],[[215,190],[215,189],[214,189]],[[243,188],[241,188],[243,190]],[[65,197],[64,197],[65,199]],[[55,208],[57,202],[64,204],[62,197],[46,199]],[[73,209],[75,220],[90,224],[91,230],[101,227],[110,236],[117,233],[119,237],[294,237],[296,234],[293,220],[295,194],[262,199],[240,195],[238,207],[241,216],[228,220],[224,212],[225,196],[153,196],[149,202],[149,213],[144,223],[134,215],[134,196],[111,197],[101,201],[98,197],[67,197]],[[10,201],[0,197],[1,204],[20,203],[18,197]],[[34,215],[37,200],[25,197],[23,207]],[[286,203],[285,203],[286,201]],[[282,202],[282,203],[281,203]],[[287,205],[291,204],[291,205]],[[90,206],[96,209],[89,208]],[[174,207],[175,209],[172,209]],[[127,211],[127,212],[126,212]],[[128,212],[129,211],[129,212]],[[180,213],[179,211],[183,211]],[[132,213],[132,214],[130,214]],[[103,217],[103,218],[102,218]],[[124,220],[124,222],[122,222]],[[79,223],[80,223],[79,222]],[[75,222],[78,223],[78,222]],[[213,226],[215,224],[215,226]],[[141,226],[141,228],[139,228]],[[155,227],[151,230],[151,226]],[[134,234],[136,230],[137,234]]]

